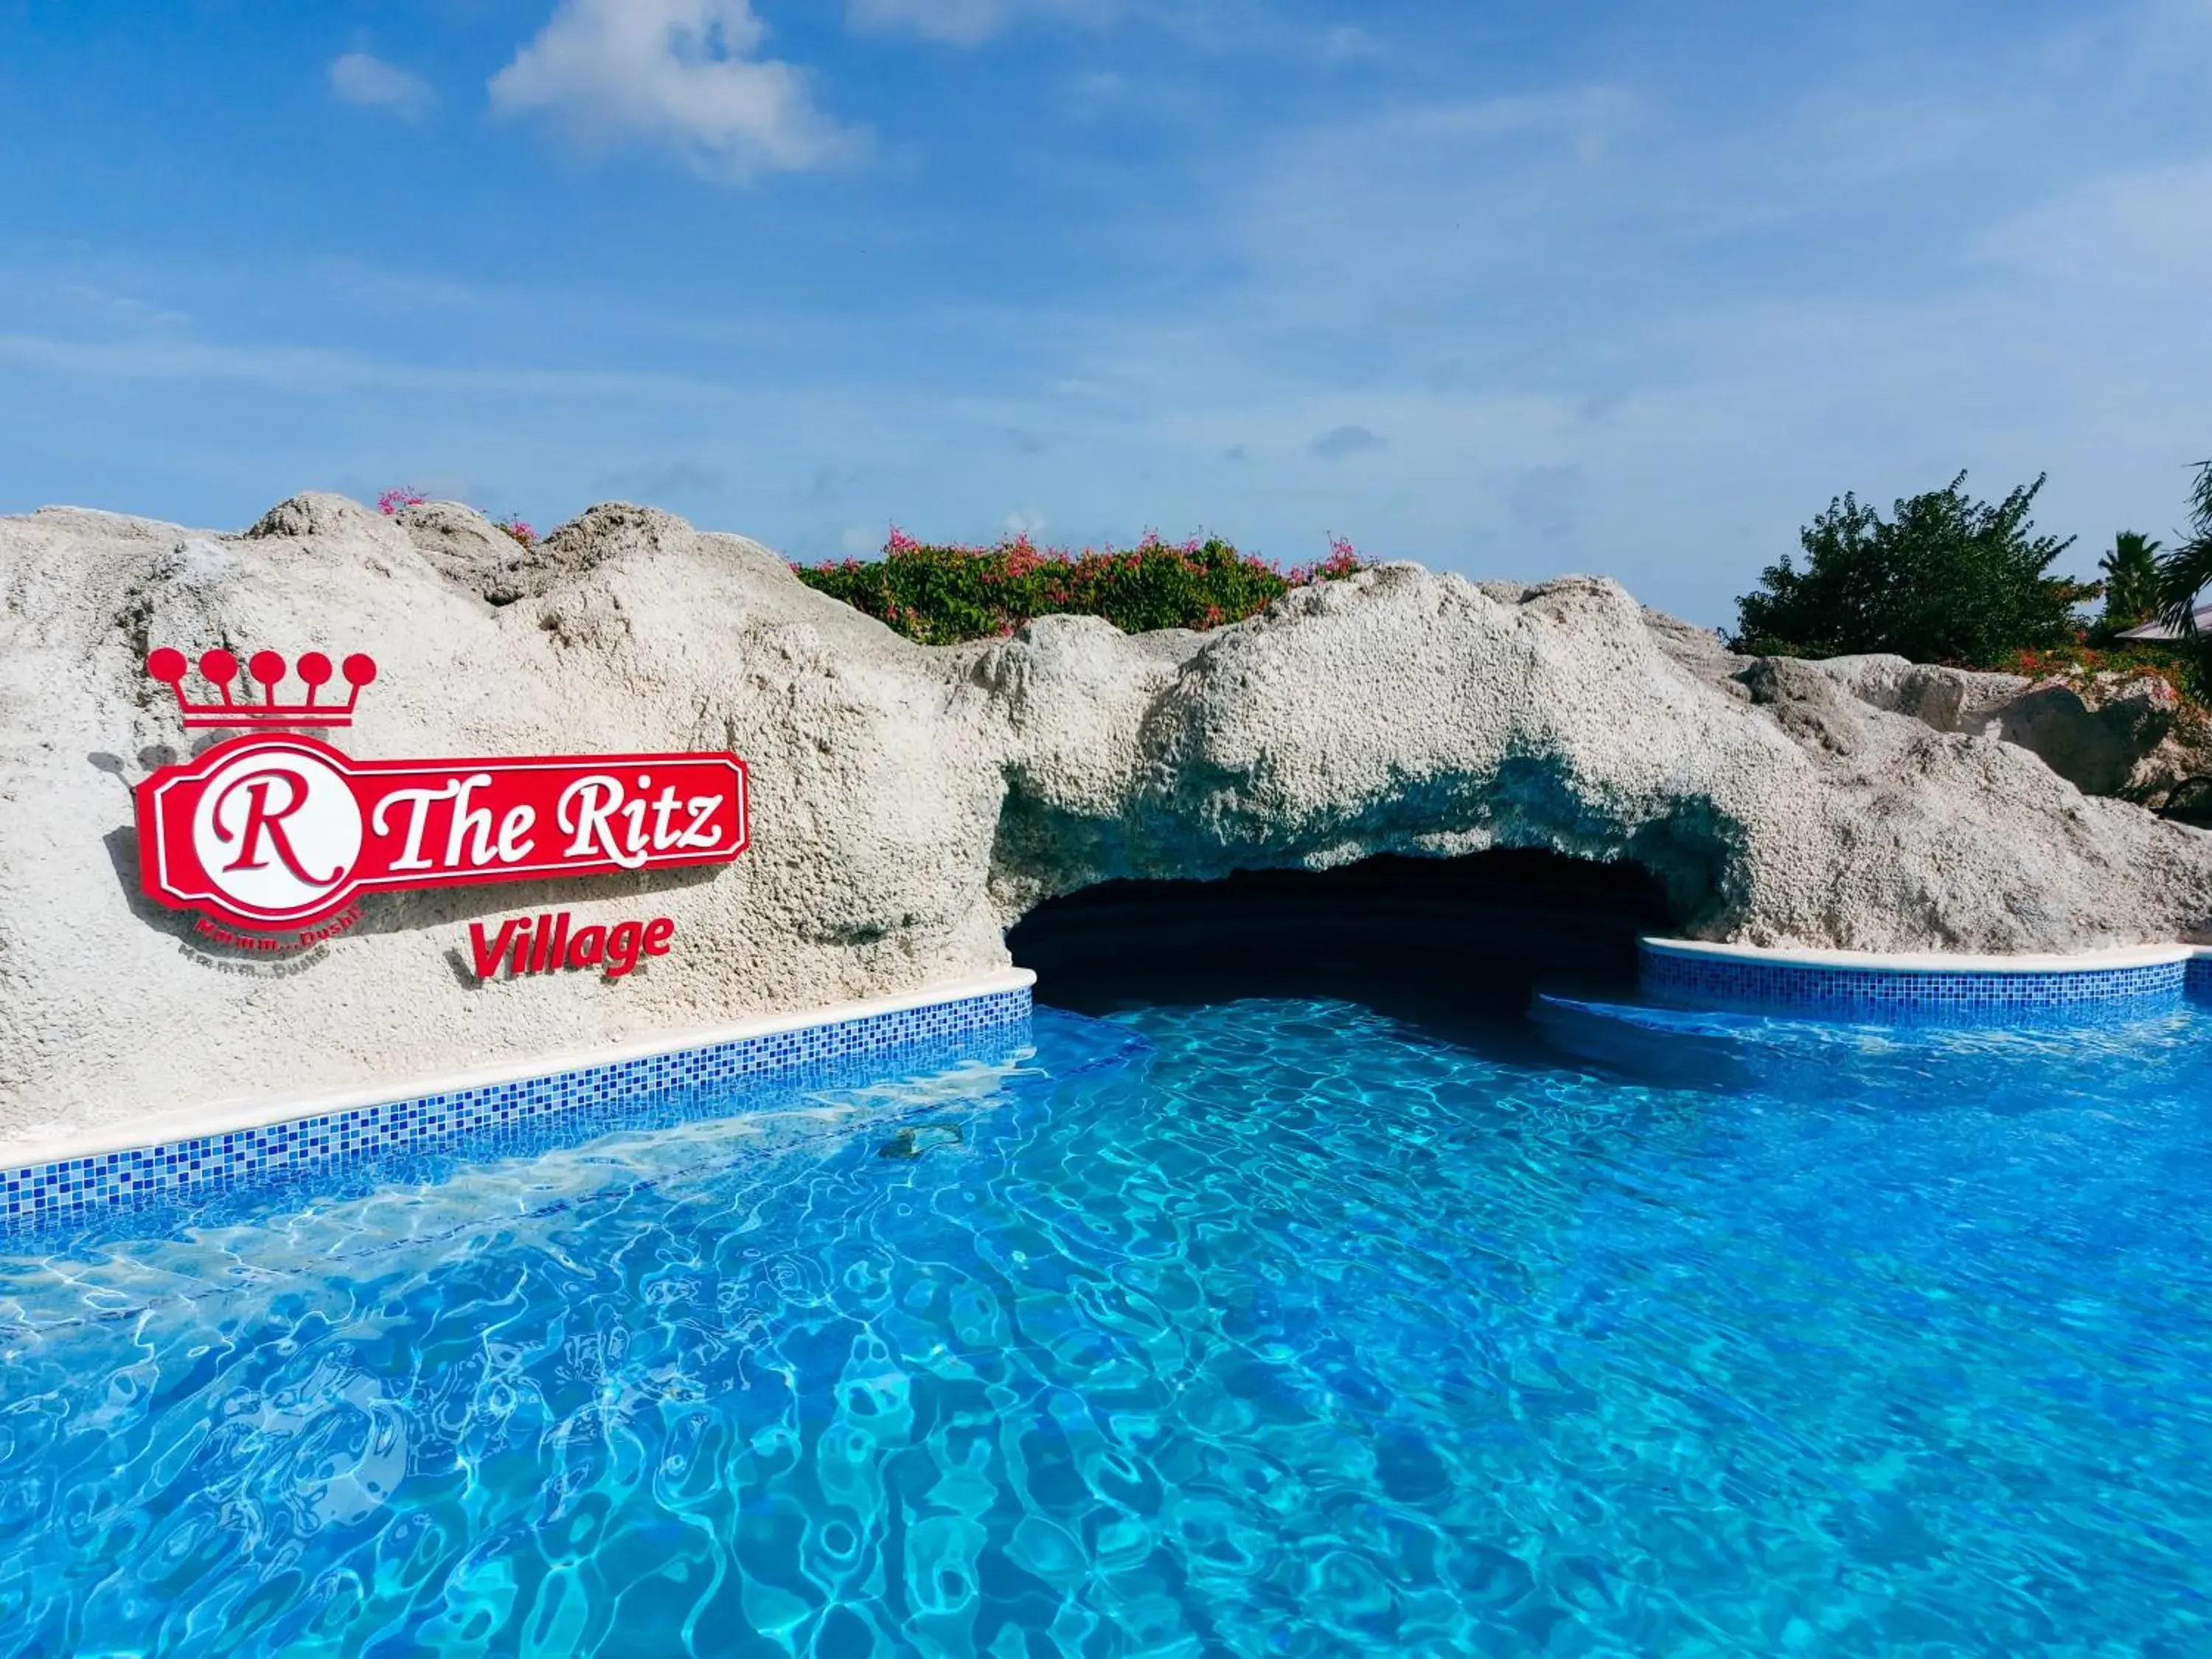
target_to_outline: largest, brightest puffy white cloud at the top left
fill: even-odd
[[[854,155],[858,135],[814,106],[805,73],[757,55],[765,33],[750,0],[562,0],[491,77],[491,104],[542,111],[584,144],[664,146],[710,177]]]

